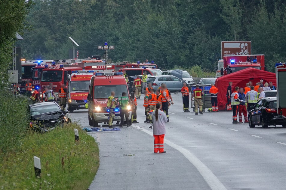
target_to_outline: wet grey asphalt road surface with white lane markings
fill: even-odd
[[[226,111],[184,113],[181,94],[172,96],[165,154],[153,153],[143,99],[137,100],[136,126],[90,132],[100,147],[90,189],[286,189],[286,128],[232,124]],[[71,114],[83,127],[87,115]]]

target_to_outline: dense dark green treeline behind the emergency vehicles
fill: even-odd
[[[283,0],[34,0],[21,42],[26,59],[67,58],[72,43],[80,58],[102,55],[108,42],[113,61],[154,60],[161,67],[201,65],[214,71],[223,40],[251,40],[274,70],[285,61],[286,2]]]

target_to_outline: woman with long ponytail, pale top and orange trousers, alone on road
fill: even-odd
[[[166,133],[165,123],[168,121],[164,111],[161,111],[161,105],[156,104],[156,110],[152,113],[154,153],[166,153],[164,150],[164,137]]]

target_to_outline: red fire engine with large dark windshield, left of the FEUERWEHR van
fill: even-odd
[[[44,90],[45,87],[50,86],[50,83],[53,83],[53,91],[57,94],[60,90],[60,85],[65,84],[69,81],[69,75],[72,74],[74,70],[82,70],[81,67],[63,67],[63,65],[56,65],[49,67],[45,65],[41,73],[41,88]]]

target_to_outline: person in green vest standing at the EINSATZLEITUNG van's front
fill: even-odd
[[[116,100],[120,108],[120,126],[119,127],[123,127],[124,116],[125,116],[127,127],[130,127],[131,125],[131,123],[129,123],[129,112],[127,109],[127,106],[129,105],[131,101],[126,95],[127,95],[126,92],[122,92],[122,96],[120,96]]]

